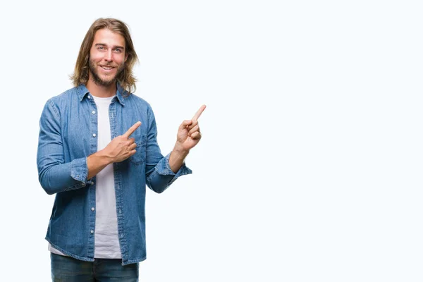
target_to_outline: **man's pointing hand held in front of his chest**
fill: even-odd
[[[112,162],[118,163],[120,161],[124,161],[137,152],[135,150],[137,147],[135,139],[130,138],[129,136],[133,134],[140,125],[141,121],[138,121],[123,135],[114,137],[114,139],[111,140],[111,142],[104,148],[104,152],[111,158]]]

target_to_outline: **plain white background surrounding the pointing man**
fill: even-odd
[[[1,280],[50,279],[39,116],[114,17],[164,154],[207,105],[194,173],[147,192],[140,281],[423,281],[419,3],[2,4]]]

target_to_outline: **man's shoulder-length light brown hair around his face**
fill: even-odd
[[[119,82],[121,87],[129,93],[135,92],[137,87],[135,82],[137,81],[133,75],[133,66],[138,61],[137,53],[135,52],[133,41],[130,37],[128,25],[123,23],[121,20],[116,18],[99,18],[92,23],[90,29],[87,31],[87,34],[82,41],[80,51],[78,54],[78,59],[75,63],[75,71],[71,75],[71,80],[73,85],[78,86],[81,83],[85,84],[88,81],[88,74],[90,71],[90,49],[92,47],[92,42],[94,42],[94,35],[97,30],[102,30],[107,28],[112,32],[116,32],[125,38],[125,55],[128,55],[124,63],[123,72],[118,75],[116,80]],[[124,96],[126,96],[124,94]]]

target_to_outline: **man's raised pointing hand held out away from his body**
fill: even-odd
[[[201,133],[200,126],[198,125],[198,118],[200,118],[202,112],[206,109],[206,105],[202,105],[200,109],[195,113],[192,119],[183,121],[178,129],[178,135],[176,137],[175,149],[181,152],[189,152],[190,149],[200,142]]]

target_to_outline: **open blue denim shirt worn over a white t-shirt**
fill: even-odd
[[[118,85],[109,106],[111,139],[134,123],[136,153],[114,163],[118,238],[122,264],[140,262],[145,251],[145,187],[161,193],[179,176],[192,173],[185,164],[173,173],[157,144],[151,106]],[[56,194],[46,240],[63,254],[94,261],[96,178],[87,179],[87,157],[97,152],[97,107],[85,85],[47,101],[39,120],[39,183]]]

